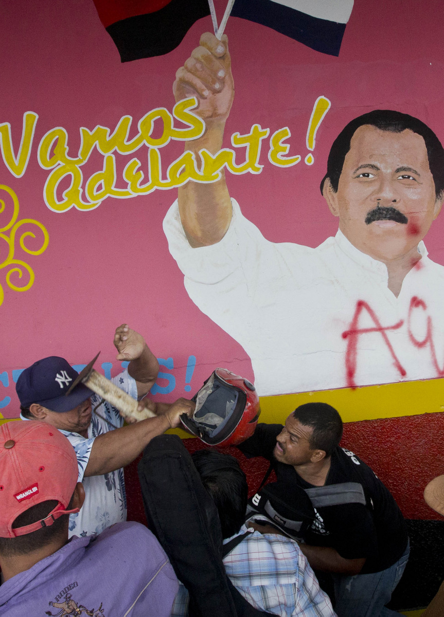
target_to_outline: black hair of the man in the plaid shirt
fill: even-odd
[[[216,503],[222,537],[237,534],[245,521],[248,485],[235,457],[217,450],[198,450],[191,455],[204,487]]]

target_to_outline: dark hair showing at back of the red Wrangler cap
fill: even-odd
[[[71,497],[67,510],[72,508],[72,501],[73,496]],[[22,514],[17,516],[14,523],[12,523],[12,529],[25,527],[26,525],[36,523],[36,521],[43,520],[43,518],[46,518],[46,516],[54,510],[57,503],[59,503],[57,500],[51,499],[31,506],[28,510],[25,510]],[[65,535],[67,537],[68,519],[69,514],[63,514],[49,527],[36,529],[36,531],[32,531],[30,534],[17,536],[15,538],[0,537],[0,554],[5,557],[27,555],[35,550],[43,549],[43,547],[50,544],[53,540],[63,539]]]

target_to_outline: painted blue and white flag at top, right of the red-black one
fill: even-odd
[[[353,0],[235,0],[231,14],[338,56]]]

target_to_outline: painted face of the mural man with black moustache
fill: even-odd
[[[370,125],[354,133],[338,191],[327,181],[324,197],[346,238],[382,262],[414,255],[443,201],[421,135]]]

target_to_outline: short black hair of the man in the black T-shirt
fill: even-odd
[[[324,450],[329,457],[342,437],[342,420],[337,410],[327,403],[306,403],[299,405],[293,418],[304,426],[311,426],[313,433],[309,440],[312,450]]]

